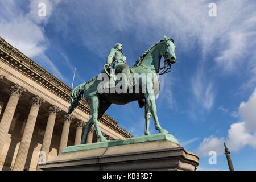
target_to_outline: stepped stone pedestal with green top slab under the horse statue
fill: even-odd
[[[43,171],[195,170],[199,156],[177,144],[171,134],[80,144],[64,148]]]

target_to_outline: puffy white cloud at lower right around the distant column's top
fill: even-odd
[[[241,102],[239,113],[245,121],[230,125],[228,137],[225,139],[230,151],[238,152],[245,146],[256,148],[256,89],[247,102]],[[214,150],[217,155],[224,151],[224,137],[218,138],[211,135],[204,138],[197,151],[200,155],[207,156],[208,152]]]

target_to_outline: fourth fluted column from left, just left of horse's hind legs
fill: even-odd
[[[72,114],[65,114],[64,115],[64,125],[62,129],[62,134],[60,138],[60,147],[58,151],[58,155],[60,155],[63,151],[63,148],[67,147],[68,144],[68,133],[71,121],[74,119]]]

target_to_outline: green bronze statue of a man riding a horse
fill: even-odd
[[[90,105],[90,119],[86,122],[81,144],[85,143],[92,125],[94,125],[100,142],[107,141],[100,131],[98,119],[102,117],[111,104],[125,105],[132,101],[139,101],[140,107],[145,107],[145,135],[150,135],[149,122],[151,114],[154,119],[155,129],[159,130],[159,133],[169,133],[159,124],[155,99],[160,90],[158,75],[170,72],[171,64],[174,64],[177,60],[174,53],[176,49],[174,40],[164,36],[164,40],[155,43],[139,57],[133,68],[129,68],[126,64],[126,57],[122,53],[122,48],[121,44],[116,44],[110,50],[107,63],[104,65],[104,70],[101,74],[93,77],[88,82],[80,84],[71,93],[71,106],[68,114],[73,112],[83,96]],[[164,66],[160,68],[162,56],[164,57]],[[122,80],[119,79],[118,81],[120,74],[122,74]],[[133,76],[131,77],[131,75]],[[104,82],[102,78],[108,78],[110,82],[112,80],[112,86],[108,87],[110,82]],[[120,80],[125,84],[122,84]],[[112,92],[118,85],[122,92],[117,90]],[[134,90],[137,90],[137,92],[134,92]]]

